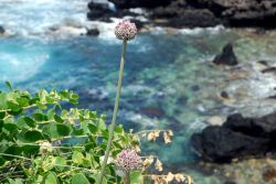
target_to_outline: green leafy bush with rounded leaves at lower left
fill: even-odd
[[[10,91],[0,91],[0,183],[95,183],[108,140],[105,116],[75,108],[73,91],[31,95],[7,85]],[[137,137],[116,126],[112,158],[137,145]],[[121,183],[113,162],[103,183]]]

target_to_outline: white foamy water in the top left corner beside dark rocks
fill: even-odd
[[[0,24],[22,36],[41,35],[52,26],[63,28],[66,21],[84,24],[87,3],[88,0],[1,0]],[[79,34],[76,29],[66,32]]]

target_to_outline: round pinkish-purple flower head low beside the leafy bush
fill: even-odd
[[[116,165],[124,173],[141,169],[141,158],[135,150],[123,150],[116,158]]]

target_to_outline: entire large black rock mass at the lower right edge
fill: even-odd
[[[232,115],[223,126],[210,126],[193,134],[191,142],[197,153],[211,162],[264,156],[276,149],[276,112],[262,118]]]

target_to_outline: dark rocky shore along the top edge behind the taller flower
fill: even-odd
[[[276,0],[110,0],[118,11],[95,11],[95,2],[89,3],[88,18],[97,20],[103,17],[121,18],[125,15],[138,17],[140,13],[130,12],[130,9],[141,8],[142,14],[149,21],[163,26],[194,28],[214,26],[259,26],[276,28]],[[103,9],[103,7],[100,8]],[[108,8],[105,8],[107,10]],[[100,18],[99,18],[100,17]]]

